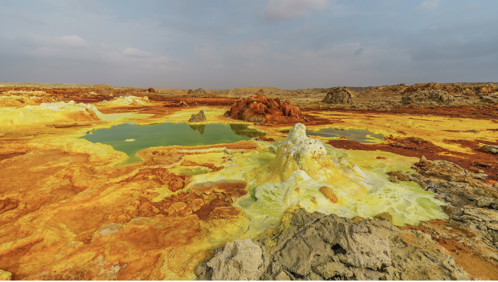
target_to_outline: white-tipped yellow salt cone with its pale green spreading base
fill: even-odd
[[[286,208],[299,204],[308,212],[345,217],[373,217],[389,212],[397,225],[443,218],[432,194],[388,181],[378,171],[362,171],[347,159],[327,157],[324,145],[306,136],[303,124],[294,125],[275,159],[246,174],[256,201],[246,210],[260,228],[276,226]]]

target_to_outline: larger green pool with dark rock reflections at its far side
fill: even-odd
[[[254,128],[249,128],[246,124],[187,125],[184,123],[163,123],[138,126],[124,123],[109,129],[97,129],[82,138],[93,143],[111,145],[115,150],[126,153],[129,159],[125,164],[128,164],[140,162],[141,160],[135,156],[136,152],[150,147],[235,143],[265,134]],[[135,139],[135,141],[124,141],[126,139]]]

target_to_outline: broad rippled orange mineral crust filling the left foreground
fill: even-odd
[[[248,193],[247,183],[185,192],[191,176],[165,168],[182,154],[113,168],[61,148],[9,147],[17,152],[0,161],[0,266],[12,279],[194,279],[193,268],[244,225],[232,203]],[[171,195],[153,201],[158,187]]]

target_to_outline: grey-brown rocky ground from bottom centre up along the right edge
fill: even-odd
[[[421,174],[390,172],[390,180],[415,181],[444,198],[451,221],[399,228],[389,214],[348,219],[295,206],[277,228],[215,249],[196,268],[199,280],[495,279],[498,188],[453,163],[423,158],[415,165]],[[448,246],[466,261],[455,261]]]

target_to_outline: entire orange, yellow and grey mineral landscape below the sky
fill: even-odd
[[[1,84],[0,280],[497,280],[497,92]]]

